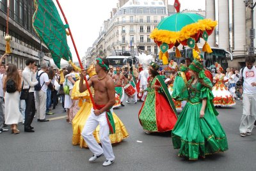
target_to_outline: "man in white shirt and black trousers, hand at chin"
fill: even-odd
[[[34,86],[38,84],[35,75],[35,60],[28,58],[26,60],[26,68],[22,71],[23,78],[23,89],[29,89],[29,96],[26,101],[26,110],[25,110],[25,123],[24,131],[25,132],[35,132],[31,123],[35,115],[35,96],[34,96]]]

